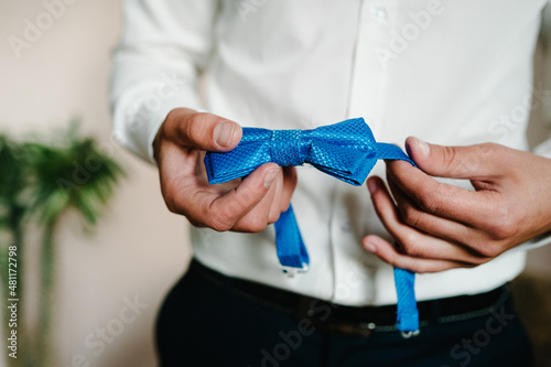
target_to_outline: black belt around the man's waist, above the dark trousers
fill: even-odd
[[[242,299],[289,314],[295,320],[307,320],[321,333],[369,337],[374,332],[396,332],[396,305],[347,306],[310,298],[245,279],[226,277],[193,259],[188,274],[198,276]],[[458,295],[418,303],[420,326],[444,324],[489,314],[509,295],[505,284],[489,292]]]

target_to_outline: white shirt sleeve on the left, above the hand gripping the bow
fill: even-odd
[[[152,142],[176,107],[202,109],[197,80],[212,48],[218,0],[123,0],[110,102],[115,139],[155,163]]]

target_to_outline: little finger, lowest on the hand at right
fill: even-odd
[[[391,244],[378,236],[367,236],[363,246],[370,252],[377,255],[382,261],[401,269],[408,269],[418,273],[439,272],[456,268],[473,268],[473,265],[461,261],[420,259],[398,252]]]

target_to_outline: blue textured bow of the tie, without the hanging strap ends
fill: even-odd
[[[246,176],[258,166],[273,162],[281,166],[310,163],[359,186],[377,159],[392,159],[397,150],[403,159],[399,148],[377,143],[361,118],[312,130],[244,128],[237,148],[227,153],[208,153],[205,166],[210,184]]]

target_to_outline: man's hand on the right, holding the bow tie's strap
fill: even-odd
[[[364,238],[383,261],[415,272],[472,268],[551,230],[551,160],[494,143],[442,147],[408,138],[406,148],[419,169],[387,161],[390,191],[380,177],[367,181],[398,245]],[[475,190],[432,176],[469,180]]]

